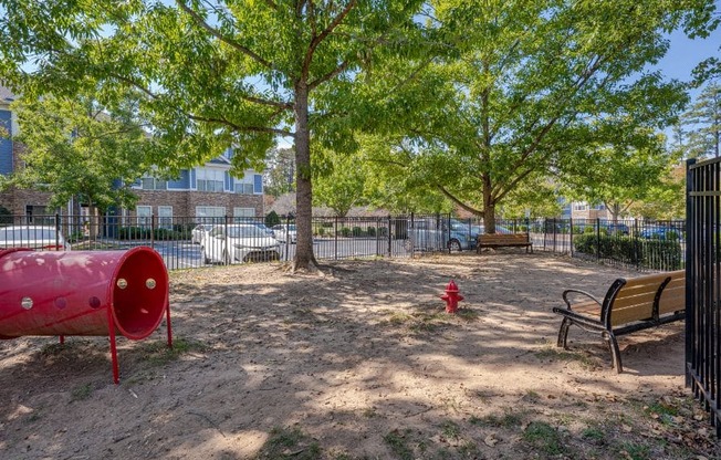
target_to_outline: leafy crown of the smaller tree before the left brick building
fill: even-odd
[[[101,210],[135,203],[129,187],[151,169],[149,160],[161,147],[132,106],[108,113],[88,97],[46,95],[22,98],[12,107],[21,127],[15,140],[27,148],[24,166],[6,186],[50,191],[54,207],[71,198]]]

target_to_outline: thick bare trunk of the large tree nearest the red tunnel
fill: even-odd
[[[311,182],[311,135],[307,126],[307,83],[295,84],[295,226],[297,245],[293,270],[307,270],[313,257],[313,187]]]

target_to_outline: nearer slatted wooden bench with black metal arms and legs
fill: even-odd
[[[576,295],[578,294],[578,295]],[[571,296],[585,297],[571,303]],[[658,327],[686,318],[686,271],[655,273],[645,276],[614,281],[603,301],[584,291],[566,290],[563,293],[566,307],[554,307],[563,315],[558,331],[558,346],[566,348],[568,327],[600,333],[608,342],[614,366],[624,370],[616,337],[649,327]]]

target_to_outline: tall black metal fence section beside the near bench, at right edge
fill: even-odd
[[[686,384],[721,436],[721,158],[687,164]]]

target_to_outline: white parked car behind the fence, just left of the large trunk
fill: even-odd
[[[250,223],[215,226],[202,242],[206,263],[279,260],[278,240]]]

